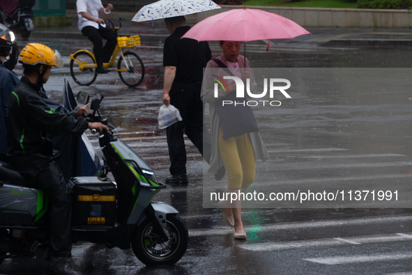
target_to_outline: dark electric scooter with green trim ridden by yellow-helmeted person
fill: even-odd
[[[97,177],[73,177],[72,241],[108,248],[132,247],[145,265],[173,265],[188,247],[188,229],[178,211],[153,197],[165,188],[135,151],[114,135],[116,129],[98,112],[103,96],[91,101],[90,121],[106,124],[98,134],[104,165]],[[79,92],[77,101],[89,102]],[[92,131],[93,132],[93,131]],[[57,155],[56,155],[57,157]],[[107,177],[111,172],[115,181]],[[6,258],[32,256],[49,246],[47,195],[7,163],[0,162],[0,264]]]

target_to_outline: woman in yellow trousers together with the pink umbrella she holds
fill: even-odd
[[[294,38],[303,34],[310,33],[287,18],[263,10],[243,8],[208,17],[194,25],[182,37],[199,41],[219,40],[223,50],[222,56],[212,59],[207,64],[202,100],[209,103],[211,115],[212,154],[209,172],[215,173],[222,165],[226,167],[228,193],[245,192],[254,181],[255,158],[266,160],[268,153],[261,140],[253,112],[249,110],[250,107],[249,109],[245,108],[245,112],[236,115],[230,115],[227,112],[227,110],[238,112],[240,109],[240,107],[236,107],[236,98],[232,101],[235,102],[235,107],[224,110],[226,115],[231,117],[229,126],[237,126],[245,122],[245,125],[250,124],[250,129],[243,131],[242,135],[226,134],[226,138],[224,138],[224,127],[227,126],[224,126],[222,122],[227,120],[227,117],[222,116],[224,112],[221,99],[235,94],[236,83],[233,81],[231,83],[230,80],[224,82],[222,77],[229,72],[229,74],[240,78],[245,83],[244,87],[247,87],[246,81],[249,79],[249,88],[253,93],[256,82],[254,82],[249,61],[246,57],[239,55],[241,41]],[[218,68],[224,69],[218,70]],[[218,82],[221,87],[218,87],[218,84],[214,82]],[[245,116],[246,113],[249,114],[249,117]],[[257,129],[251,130],[253,124],[256,124]],[[241,219],[240,200],[236,200],[234,204],[229,204],[227,200],[221,200],[218,205],[224,214],[227,225],[235,228],[235,239],[245,239],[246,232]]]

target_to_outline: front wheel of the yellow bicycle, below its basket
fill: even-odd
[[[142,83],[144,77],[143,61],[134,52],[125,52],[123,56],[125,59],[123,60],[123,57],[120,57],[117,63],[120,79],[128,87],[137,87]]]

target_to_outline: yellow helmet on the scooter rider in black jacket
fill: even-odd
[[[24,47],[19,55],[19,62],[29,65],[43,64],[48,66],[56,66],[58,68],[63,67],[63,59],[56,50],[52,50],[49,47],[38,44],[29,43]]]

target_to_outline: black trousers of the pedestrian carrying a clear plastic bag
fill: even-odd
[[[169,91],[170,104],[182,116],[182,121],[166,128],[169,147],[170,174],[186,173],[186,149],[183,133],[203,156],[203,103],[200,98],[201,82],[174,82]]]

